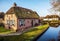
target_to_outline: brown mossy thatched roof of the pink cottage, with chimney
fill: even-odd
[[[16,14],[18,18],[39,18],[35,11],[19,7],[16,3],[14,3],[13,7],[11,7],[6,14]]]

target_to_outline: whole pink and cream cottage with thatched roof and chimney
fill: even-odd
[[[21,30],[39,24],[39,15],[30,9],[17,6],[16,3],[6,12],[4,25],[6,29]]]

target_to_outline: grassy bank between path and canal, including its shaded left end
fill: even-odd
[[[0,37],[0,41],[32,41],[35,37],[41,35],[48,26],[48,24],[37,26],[21,35]]]

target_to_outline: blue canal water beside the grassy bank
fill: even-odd
[[[40,38],[38,38],[37,41],[49,41],[51,39],[57,41],[59,31],[60,31],[60,26],[49,27],[49,29]]]

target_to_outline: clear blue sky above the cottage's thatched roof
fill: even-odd
[[[50,0],[0,0],[0,12],[8,11],[14,2],[18,6],[36,11],[40,16],[48,15],[51,8]]]

